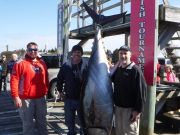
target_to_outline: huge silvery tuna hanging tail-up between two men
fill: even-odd
[[[124,17],[126,13],[107,17],[97,15],[85,2],[83,5],[97,23],[83,98],[85,124],[88,135],[110,135],[113,119],[113,90],[108,73],[107,56],[102,43],[101,26]]]

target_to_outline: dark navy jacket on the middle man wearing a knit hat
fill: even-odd
[[[68,99],[79,100],[82,83],[86,77],[88,61],[82,59],[80,64],[72,65],[71,60],[62,65],[57,75],[57,89],[64,91]]]

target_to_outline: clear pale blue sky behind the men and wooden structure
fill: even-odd
[[[159,0],[160,2],[162,0]],[[0,52],[25,48],[34,41],[40,49],[57,45],[57,6],[60,0],[0,0]],[[180,7],[179,0],[169,0]],[[121,37],[105,39],[106,44],[122,42]],[[74,42],[73,42],[74,43]],[[72,43],[72,44],[73,44]],[[112,46],[111,46],[112,47]],[[111,48],[107,45],[107,48]],[[116,47],[117,48],[117,47]]]

